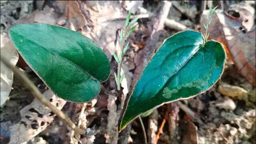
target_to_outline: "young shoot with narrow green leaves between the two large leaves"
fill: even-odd
[[[118,69],[117,69],[117,74],[116,72],[115,74],[115,80],[116,80],[116,85],[117,85],[117,90],[120,90],[120,84],[124,78],[124,72],[121,74],[121,68],[122,68],[122,59],[124,57],[124,54],[126,53],[128,46],[129,46],[129,42],[127,42],[127,44],[124,46],[125,41],[127,40],[127,38],[130,36],[130,34],[135,30],[136,26],[134,26],[134,23],[138,20],[138,18],[140,18],[141,14],[139,16],[136,16],[136,18],[134,18],[131,22],[129,22],[130,20],[130,16],[131,13],[129,12],[126,21],[125,21],[125,27],[121,29],[120,32],[120,48],[121,48],[121,52],[119,54],[119,56],[117,56],[114,52],[113,52],[113,56],[118,64]]]

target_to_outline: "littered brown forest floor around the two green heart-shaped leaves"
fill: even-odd
[[[164,7],[168,2],[171,4],[166,12]],[[223,1],[208,0],[203,3],[195,0],[182,0],[168,2],[77,1],[78,5],[76,6],[80,9],[80,12],[77,12],[77,7],[68,2],[1,0],[1,48],[9,40],[8,29],[17,24],[48,23],[76,30],[103,48],[111,62],[110,78],[103,83],[103,86],[106,91],[114,90],[117,93],[114,80],[117,63],[112,56],[112,51],[120,52],[115,46],[118,39],[117,34],[124,26],[128,10],[132,16],[142,14],[142,18],[138,20],[138,27],[128,38],[130,45],[124,56],[122,66],[122,69],[125,70],[125,80],[122,82],[124,90],[120,96],[126,97],[138,80],[140,70],[144,68],[143,61],[150,58],[149,56],[162,44],[165,38],[176,32],[186,29],[202,32],[203,26],[200,20],[210,6],[218,5],[218,9],[223,8],[232,16],[236,16],[238,13],[241,18],[244,16],[244,11],[240,10],[241,5],[250,5],[254,13],[252,12],[250,17],[248,15],[244,17],[248,20],[252,19],[252,21],[249,21],[250,24],[242,24],[246,28],[246,32],[249,33],[253,30],[255,32],[255,1],[224,1],[222,3]],[[68,4],[70,7],[66,6]],[[68,12],[66,11],[67,8]],[[247,10],[250,11],[250,8]],[[162,13],[166,13],[165,18]],[[172,20],[171,23],[168,23],[166,19]],[[212,22],[212,25],[214,24]],[[214,38],[212,37],[212,39]],[[239,37],[236,38],[239,39]],[[251,41],[254,41],[252,61],[255,61],[255,36]],[[150,44],[153,44],[152,50]],[[231,47],[228,42],[226,45],[228,48]],[[232,58],[226,60],[221,79],[207,92],[188,100],[164,104],[154,110],[150,116],[142,118],[148,143],[156,143],[156,135],[160,130],[158,144],[256,144],[255,85],[250,84],[250,80],[237,70],[236,64],[237,62]],[[48,90],[47,86],[24,61],[19,59],[17,66],[28,74],[42,93]],[[78,122],[83,104],[66,102],[58,98],[53,99],[73,122]],[[112,101],[114,101],[114,105],[110,105]],[[44,116],[37,109],[36,102],[32,105],[33,102],[35,100],[32,94],[14,75],[12,91],[7,102],[0,108],[1,144],[7,144],[10,140],[10,142],[20,142],[21,139],[25,139],[27,144],[77,142],[73,138],[74,132],[65,123],[54,114]],[[38,119],[34,123],[32,122],[31,126],[26,126],[29,125],[28,122],[22,121],[28,112],[24,111],[28,109],[27,106],[30,106],[28,111],[34,114],[35,120]],[[108,95],[104,90],[94,100],[88,102],[84,112],[85,120],[82,124],[87,130],[90,128],[92,137],[95,136],[92,138],[94,144],[144,143],[142,126],[138,119],[118,133],[118,129],[116,129],[118,126],[115,122],[118,122],[120,117],[120,107],[120,98]],[[31,110],[33,108],[35,111]],[[111,118],[115,118],[114,122],[111,122]],[[40,125],[38,124],[39,121],[47,122],[47,124],[43,123],[42,125],[41,122]],[[19,126],[23,126],[22,122],[26,126],[24,131],[12,127],[20,123]],[[163,122],[165,123],[163,124]],[[22,133],[31,136],[26,137]],[[19,140],[14,140],[17,135],[19,135]]]

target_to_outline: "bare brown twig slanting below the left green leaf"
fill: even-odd
[[[58,108],[56,108],[56,106],[52,105],[50,103],[50,101],[48,101],[42,94],[41,92],[38,90],[38,88],[34,85],[34,83],[28,78],[28,76],[26,76],[25,74],[22,74],[22,72],[20,72],[18,70],[18,68],[12,66],[10,64],[10,62],[1,55],[1,60],[4,62],[4,64],[6,66],[8,66],[9,68],[12,69],[12,71],[16,74],[16,76],[18,76],[23,82],[24,85],[31,91],[32,95],[34,97],[36,97],[40,102],[42,102],[42,104],[44,104],[45,106],[47,106],[48,108],[50,108],[52,110],[52,112],[54,112],[54,114],[56,114],[62,121],[64,121],[66,124],[68,124],[68,126],[70,126],[70,128],[72,128],[74,131],[76,131],[78,134],[85,134],[85,130],[82,130],[80,128],[78,128],[73,122],[72,120],[70,120],[70,118],[68,118],[62,111],[58,110]]]

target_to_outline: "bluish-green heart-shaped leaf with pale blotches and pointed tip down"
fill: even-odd
[[[222,75],[225,56],[219,42],[204,44],[198,32],[188,30],[167,38],[136,83],[120,130],[152,108],[211,88]]]

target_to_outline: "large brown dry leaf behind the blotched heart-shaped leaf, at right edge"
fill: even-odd
[[[206,21],[208,12],[206,10],[202,14],[201,24]],[[227,55],[230,53],[236,69],[248,82],[255,86],[255,28],[247,32],[247,26],[243,26],[242,22],[242,18],[234,18],[225,12],[216,10],[208,32],[211,39],[217,40],[224,45],[226,53]],[[204,33],[204,26],[201,26],[201,28],[201,32]]]

